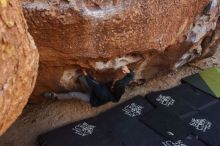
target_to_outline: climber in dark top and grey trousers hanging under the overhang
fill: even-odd
[[[90,103],[94,107],[103,105],[109,101],[118,102],[124,94],[126,86],[134,78],[133,71],[129,70],[127,66],[122,67],[122,72],[124,77],[109,87],[107,84],[99,83],[85,70],[82,70],[83,76],[79,77],[79,82],[84,93],[77,91],[67,93],[45,92],[43,96],[58,100],[79,99]]]

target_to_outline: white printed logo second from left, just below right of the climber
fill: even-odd
[[[141,115],[143,108],[143,106],[131,103],[130,105],[124,107],[122,110],[125,112],[126,115],[136,117]]]

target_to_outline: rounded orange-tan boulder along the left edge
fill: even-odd
[[[0,135],[16,120],[33,90],[38,52],[17,0],[0,0]]]

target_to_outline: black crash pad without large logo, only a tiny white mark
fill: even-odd
[[[193,131],[177,115],[161,108],[144,114],[140,121],[172,141],[184,139]]]

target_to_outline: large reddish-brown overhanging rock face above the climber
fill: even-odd
[[[40,53],[35,99],[77,89],[80,68],[108,81],[129,65],[135,81],[147,80],[213,54],[219,39],[217,0],[26,1],[23,8]]]

